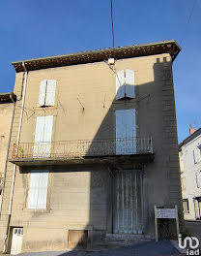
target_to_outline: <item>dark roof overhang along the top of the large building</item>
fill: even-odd
[[[66,55],[16,61],[12,64],[16,72],[23,72],[23,63],[28,71],[63,67],[77,64],[93,63],[108,58],[124,59],[155,54],[169,53],[172,60],[176,58],[181,48],[176,41],[164,41],[154,44],[133,45],[122,48],[103,48]]]

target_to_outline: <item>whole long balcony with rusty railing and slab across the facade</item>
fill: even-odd
[[[79,140],[14,144],[10,161],[19,166],[107,162],[108,159],[148,157],[153,160],[152,138]]]

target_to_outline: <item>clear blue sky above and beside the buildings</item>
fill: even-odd
[[[201,126],[200,13],[201,0],[113,0],[115,46],[183,48],[173,65],[179,142]],[[112,47],[110,0],[1,1],[0,35],[0,92],[13,91],[14,60]]]

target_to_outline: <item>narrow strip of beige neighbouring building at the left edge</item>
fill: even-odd
[[[0,212],[15,101],[13,92],[0,93]]]

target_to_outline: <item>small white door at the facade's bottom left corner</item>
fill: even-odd
[[[13,236],[12,236],[12,246],[11,246],[12,255],[16,255],[21,252],[22,237],[23,237],[23,228],[14,227]]]

